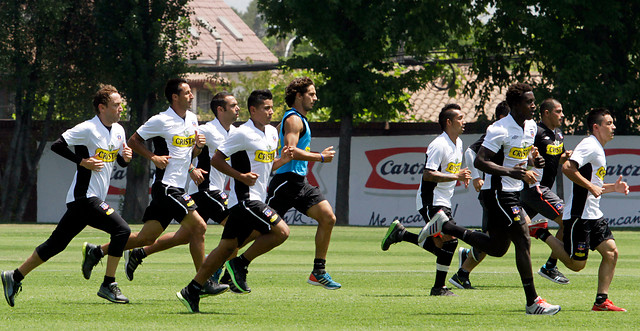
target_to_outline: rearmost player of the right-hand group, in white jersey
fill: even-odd
[[[461,109],[457,104],[447,104],[442,108],[438,122],[443,132],[427,147],[422,180],[416,195],[417,209],[425,220],[443,210],[449,222],[453,222],[451,197],[456,183],[461,181],[466,186],[471,179],[468,168],[460,169],[462,140],[459,136],[464,131]],[[430,294],[455,296],[444,283],[458,240],[450,235],[436,235],[419,241],[417,234],[407,231],[398,220],[394,220],[382,239],[382,250],[386,251],[391,244],[400,241],[413,243],[436,256],[436,278]]]

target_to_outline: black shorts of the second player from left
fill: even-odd
[[[156,220],[166,229],[171,220],[180,223],[189,211],[196,208],[198,205],[184,189],[156,182],[151,186],[151,203],[144,211],[142,221]]]

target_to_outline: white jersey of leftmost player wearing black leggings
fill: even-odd
[[[104,201],[109,191],[114,162],[126,146],[124,128],[118,123],[113,123],[109,130],[98,116],[95,116],[65,131],[62,137],[68,145],[75,146],[75,153],[83,159],[93,156],[104,162],[101,171],[91,171],[78,165],[67,192],[66,203],[91,197],[98,197]]]

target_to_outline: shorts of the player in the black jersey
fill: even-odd
[[[520,192],[520,202],[530,218],[536,215],[555,220],[564,211],[564,201],[546,186],[533,186]]]

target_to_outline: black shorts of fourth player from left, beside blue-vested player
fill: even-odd
[[[264,202],[243,200],[229,209],[229,218],[222,230],[222,239],[237,239],[240,246],[253,230],[262,234],[269,233],[281,220],[280,215]]]

